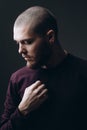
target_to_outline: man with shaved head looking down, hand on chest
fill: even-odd
[[[10,78],[0,130],[86,129],[87,61],[62,49],[55,16],[31,7],[13,35],[27,64]]]

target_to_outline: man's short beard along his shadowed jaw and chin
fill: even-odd
[[[30,69],[39,69],[42,66],[46,66],[52,55],[52,49],[47,44],[38,50],[37,55],[35,57],[32,56],[32,60],[27,60],[27,66]]]

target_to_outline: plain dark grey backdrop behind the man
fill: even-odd
[[[18,14],[33,5],[47,7],[56,15],[63,48],[87,58],[86,0],[0,0],[0,114],[11,74],[25,65],[12,39],[13,23]]]

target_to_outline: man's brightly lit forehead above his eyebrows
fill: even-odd
[[[23,39],[28,39],[34,36],[31,34],[30,27],[26,25],[16,26],[13,28],[13,39],[16,41],[21,41]]]

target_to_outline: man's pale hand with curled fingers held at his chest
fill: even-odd
[[[47,89],[41,81],[36,81],[25,89],[22,101],[18,109],[23,115],[37,109],[47,99]]]

